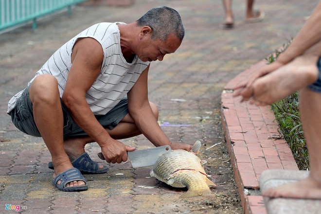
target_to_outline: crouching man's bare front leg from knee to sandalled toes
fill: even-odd
[[[51,75],[40,75],[29,89],[37,128],[46,143],[54,164],[54,177],[73,168],[64,150],[63,113],[57,80]],[[58,181],[58,184],[60,181]],[[84,181],[73,181],[66,186],[83,186]]]

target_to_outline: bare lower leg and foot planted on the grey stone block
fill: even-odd
[[[321,93],[302,89],[300,113],[310,158],[310,175],[301,181],[264,191],[263,196],[321,199]]]

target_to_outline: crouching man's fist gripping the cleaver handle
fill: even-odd
[[[101,149],[102,154],[108,163],[121,163],[122,161],[127,161],[127,151],[134,151],[136,148],[110,139],[108,140],[108,143],[101,147]]]

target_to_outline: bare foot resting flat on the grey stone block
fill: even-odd
[[[266,197],[321,199],[321,183],[312,178],[306,178],[298,182],[288,183],[275,189],[262,192]]]

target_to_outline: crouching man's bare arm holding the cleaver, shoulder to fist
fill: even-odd
[[[127,160],[125,144],[110,137],[86,101],[86,92],[101,71],[103,57],[102,47],[95,39],[81,38],[76,42],[62,101],[77,125],[102,147],[107,162],[120,163]]]

